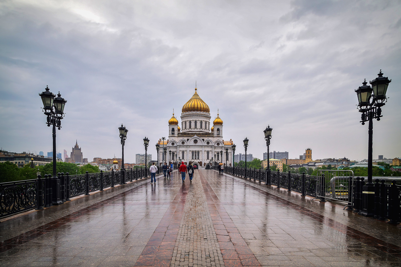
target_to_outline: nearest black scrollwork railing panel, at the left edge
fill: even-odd
[[[0,184],[0,217],[35,208],[37,181],[34,179]]]

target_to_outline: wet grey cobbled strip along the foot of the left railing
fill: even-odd
[[[159,175],[157,178],[161,178],[162,175]],[[63,218],[66,215],[73,214],[74,212],[78,212],[79,210],[88,208],[94,204],[105,201],[109,198],[114,198],[115,196],[127,192],[129,190],[136,189],[140,186],[143,186],[147,183],[146,180],[150,178],[145,178],[142,180],[138,180],[137,182],[129,182],[127,185],[118,186],[114,188],[113,192],[94,192],[93,194],[103,193],[103,196],[94,196],[92,200],[85,200],[79,204],[74,202],[82,201],[83,198],[80,197],[78,199],[73,199],[70,202],[66,202],[61,206],[53,206],[51,208],[45,208],[44,210],[32,210],[26,213],[18,214],[15,218],[11,218],[9,220],[5,220],[1,222],[0,225],[0,249],[2,246],[6,245],[4,242],[12,237],[17,237],[21,234],[27,233],[29,231],[33,231],[34,229],[46,225],[48,223],[53,222],[54,220],[58,220]],[[108,189],[108,188],[107,188]],[[111,190],[110,190],[111,191]],[[115,198],[114,198],[115,199]],[[65,205],[68,205],[67,207]],[[56,210],[59,208],[59,210]],[[28,216],[32,215],[32,212],[36,213],[32,218],[28,218]],[[29,214],[28,214],[29,213]],[[19,221],[21,220],[21,221]]]

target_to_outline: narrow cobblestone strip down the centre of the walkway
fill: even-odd
[[[223,255],[198,171],[188,189],[170,267],[223,267]]]

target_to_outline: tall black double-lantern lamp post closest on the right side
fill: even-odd
[[[388,77],[383,77],[380,70],[378,77],[369,82],[372,86],[367,85],[367,81],[363,81],[363,86],[355,90],[358,96],[358,109],[361,115],[361,123],[365,125],[365,121],[369,121],[368,127],[368,180],[362,187],[363,191],[363,209],[360,214],[364,216],[374,215],[375,205],[375,186],[372,182],[372,161],[373,161],[373,119],[380,121],[381,107],[387,102],[386,92],[389,83]],[[373,94],[372,94],[373,92]]]

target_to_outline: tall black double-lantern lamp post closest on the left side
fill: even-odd
[[[49,206],[60,205],[63,204],[63,201],[61,200],[60,179],[56,175],[56,127],[61,129],[61,119],[64,117],[64,106],[67,100],[61,97],[60,92],[56,97],[47,86],[45,91],[39,95],[43,102],[43,113],[47,116],[46,124],[49,127],[53,125],[53,177],[49,179],[49,199],[47,204]]]

